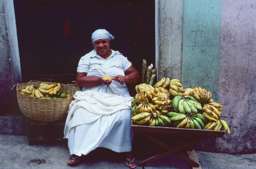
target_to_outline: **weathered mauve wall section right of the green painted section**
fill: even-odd
[[[231,134],[220,151],[256,151],[256,2],[222,1],[220,94]],[[230,150],[231,149],[231,150]]]

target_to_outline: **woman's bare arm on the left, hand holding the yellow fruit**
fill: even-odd
[[[76,83],[81,87],[93,87],[98,85],[109,86],[112,80],[103,80],[102,77],[89,77],[87,73],[77,73],[76,74]]]

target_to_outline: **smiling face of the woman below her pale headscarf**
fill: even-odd
[[[100,57],[108,56],[110,52],[110,40],[109,39],[99,39],[93,42],[93,46]],[[108,56],[109,57],[109,56]]]

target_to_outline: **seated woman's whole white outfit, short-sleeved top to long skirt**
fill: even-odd
[[[124,76],[124,72],[131,65],[118,51],[112,50],[111,56],[104,60],[92,50],[80,59],[77,72],[98,77]],[[94,100],[88,99],[90,96],[93,96]],[[70,154],[87,155],[97,147],[115,152],[132,151],[132,97],[125,84],[113,80],[108,89],[104,85],[83,88],[82,92],[77,92],[74,97],[77,99],[70,105],[64,130]],[[108,100],[108,97],[111,100]],[[116,101],[112,98],[116,98]]]

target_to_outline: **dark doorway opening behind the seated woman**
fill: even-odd
[[[14,0],[14,8],[23,82],[71,83],[96,29],[108,30],[111,48],[140,73],[143,59],[155,65],[154,0]]]

